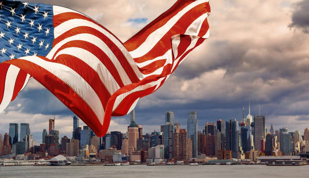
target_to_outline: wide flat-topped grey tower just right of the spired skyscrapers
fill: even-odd
[[[254,148],[256,150],[261,150],[261,139],[265,139],[265,124],[265,116],[254,116]]]

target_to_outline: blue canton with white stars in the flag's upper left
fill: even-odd
[[[54,41],[53,6],[0,0],[0,62],[46,56]]]

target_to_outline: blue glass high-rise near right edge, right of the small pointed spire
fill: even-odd
[[[288,133],[287,128],[280,129],[280,150],[282,155],[289,156],[293,150],[292,136]]]

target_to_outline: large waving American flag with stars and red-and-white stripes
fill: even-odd
[[[209,36],[208,0],[177,1],[125,43],[71,9],[14,1],[0,6],[1,60],[9,60],[0,64],[7,71],[0,109],[33,77],[97,136],[107,133],[111,116],[126,115],[158,90]]]

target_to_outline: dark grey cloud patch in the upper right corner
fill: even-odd
[[[289,27],[296,27],[304,33],[309,33],[309,1],[302,0],[295,4]]]

